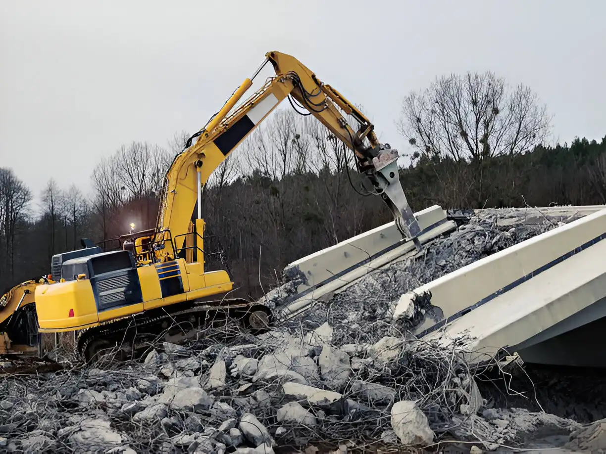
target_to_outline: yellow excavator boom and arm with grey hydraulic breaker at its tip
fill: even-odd
[[[273,65],[276,76],[270,77],[230,114],[268,62]],[[403,237],[413,240],[421,249],[417,238],[421,231],[399,180],[396,165],[398,151],[379,143],[370,120],[338,91],[319,81],[305,65],[290,55],[271,51],[265,54],[265,62],[255,74],[245,79],[221,110],[190,137],[184,150],[175,156],[164,179],[153,241],[156,248],[161,250],[156,254],[176,257],[184,245],[196,200],[198,217],[201,217],[201,186],[242,140],[289,95],[355,153],[359,173],[368,177],[375,193],[387,203]],[[339,109],[356,120],[358,125],[355,129]],[[183,240],[177,240],[179,238]],[[177,251],[173,251],[173,247]]]

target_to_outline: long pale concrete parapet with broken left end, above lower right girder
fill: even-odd
[[[431,304],[441,310],[443,318],[439,323],[427,321],[416,331],[418,335],[427,334],[511,288],[536,279],[546,269],[570,260],[575,254],[599,242],[606,236],[605,232],[606,209],[602,209],[482,258],[402,295],[394,318],[405,314],[416,295],[429,291]]]

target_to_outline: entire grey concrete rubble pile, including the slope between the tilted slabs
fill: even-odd
[[[415,260],[376,271],[262,335],[242,332],[219,343],[209,331],[188,346],[151,346],[141,361],[106,357],[93,367],[5,378],[0,448],[343,453],[369,445],[437,450],[456,439],[466,451],[530,441],[537,448],[606,449],[606,420],[582,426],[495,407],[479,386],[485,370],[470,370],[455,350],[410,334],[427,309],[422,300],[401,324],[392,321],[404,292],[553,226],[501,228],[495,221],[490,213],[476,218]],[[279,294],[273,292],[276,304]]]

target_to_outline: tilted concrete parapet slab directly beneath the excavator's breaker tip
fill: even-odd
[[[421,227],[418,238],[422,244],[456,228],[439,205],[419,211],[415,216]],[[390,222],[307,255],[284,269],[287,280],[296,281],[296,291],[288,298],[281,314],[293,317],[365,274],[415,253],[413,242],[403,240],[395,223]]]

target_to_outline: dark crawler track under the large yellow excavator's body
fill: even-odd
[[[179,344],[202,329],[216,323],[221,326],[233,319],[238,320],[241,327],[261,334],[268,331],[273,315],[267,306],[241,298],[175,304],[82,330],[76,340],[76,348],[78,355],[87,363],[95,360],[102,350],[115,347],[118,347],[118,359],[124,360],[135,357],[138,350],[157,341],[162,333],[165,340]],[[170,335],[171,331],[176,335]]]

